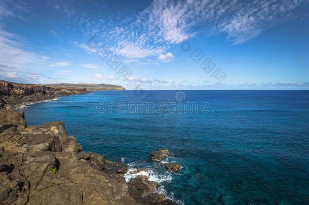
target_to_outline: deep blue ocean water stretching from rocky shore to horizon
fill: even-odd
[[[95,92],[32,104],[24,112],[28,126],[64,121],[85,151],[150,168],[163,191],[185,204],[308,204],[309,91],[182,91],[182,101],[177,92]],[[97,104],[104,98],[114,105],[102,113]],[[158,113],[168,100],[182,103],[181,111],[164,106]],[[117,112],[119,102],[127,113]],[[154,102],[157,112],[129,113],[130,102],[139,108]],[[208,113],[185,113],[186,102],[207,102]],[[161,147],[172,152],[166,161],[182,165],[180,173],[150,161],[150,152]]]

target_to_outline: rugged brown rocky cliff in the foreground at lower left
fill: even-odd
[[[27,127],[23,112],[0,110],[0,204],[176,204],[127,171],[83,152],[63,122]]]

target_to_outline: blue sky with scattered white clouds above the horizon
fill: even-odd
[[[309,1],[0,0],[0,79],[309,89]]]

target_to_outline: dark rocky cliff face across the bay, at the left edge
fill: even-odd
[[[0,80],[0,108],[53,99],[58,96],[89,93],[86,88],[17,84]]]

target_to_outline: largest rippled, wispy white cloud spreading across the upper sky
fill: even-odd
[[[98,12],[94,18],[83,16],[79,22],[86,40],[93,36],[110,52],[128,59],[157,57],[173,45],[197,35],[225,33],[228,42],[244,43],[279,21],[305,0],[272,1],[164,1],[155,0],[135,16],[115,24]],[[91,22],[91,23],[89,23]],[[78,44],[89,53],[96,48]]]

